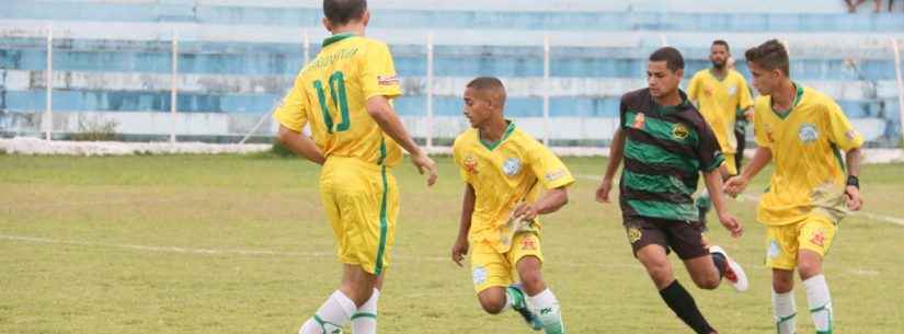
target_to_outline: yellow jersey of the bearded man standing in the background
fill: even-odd
[[[739,110],[753,105],[747,81],[735,70],[729,70],[725,78],[719,80],[712,69],[698,71],[687,84],[687,96],[698,103],[698,110],[703,115],[716,139],[724,153],[737,151],[737,139],[734,136],[734,126]]]

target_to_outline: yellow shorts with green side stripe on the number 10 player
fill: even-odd
[[[320,172],[323,210],[333,227],[339,261],[379,275],[389,266],[399,188],[384,166],[330,157]]]

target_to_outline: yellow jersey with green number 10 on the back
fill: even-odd
[[[320,54],[298,73],[273,117],[299,133],[309,125],[328,159],[357,158],[393,166],[401,161],[401,148],[367,113],[367,100],[401,93],[385,43],[339,34],[323,41]]]

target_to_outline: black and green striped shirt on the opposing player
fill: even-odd
[[[621,96],[626,134],[621,215],[699,220],[693,195],[700,172],[718,169],[724,157],[703,117],[679,91],[682,103],[662,106],[649,89]]]

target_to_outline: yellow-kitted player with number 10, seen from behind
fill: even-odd
[[[334,334],[350,321],[355,334],[376,333],[377,299],[392,247],[399,189],[388,170],[411,153],[427,184],[436,163],[414,143],[392,108],[401,94],[386,44],[364,37],[365,0],[324,0],[332,37],[298,73],[274,113],[279,141],[322,164],[320,194],[343,263],[342,283],[300,334]],[[312,139],[301,135],[309,126]]]

